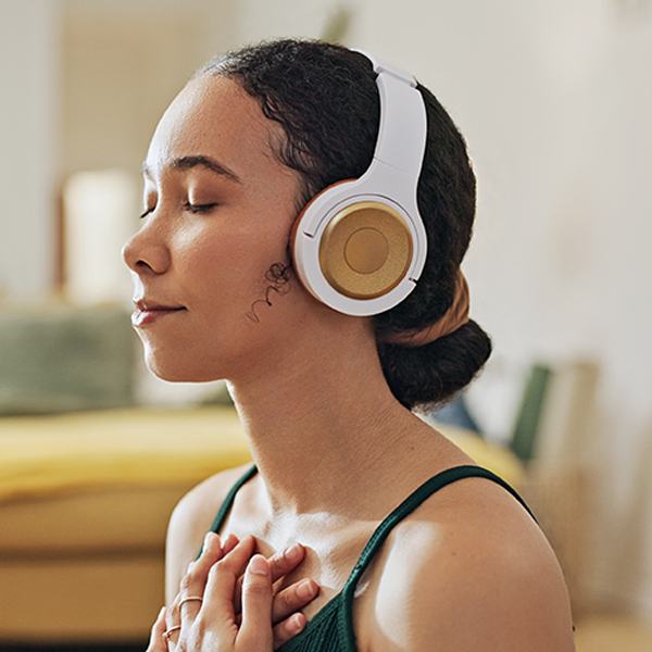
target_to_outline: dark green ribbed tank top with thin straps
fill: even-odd
[[[222,528],[234,503],[236,493],[256,473],[256,467],[252,466],[228,492],[211,527],[214,532],[218,532]],[[396,525],[414,512],[426,499],[442,487],[469,477],[487,478],[504,487],[531,515],[531,512],[516,491],[486,468],[479,466],[455,466],[436,475],[411,493],[383,521],[367,541],[343,589],[313,616],[303,631],[279,648],[277,652],[356,652],[355,635],[353,632],[353,595],[360,578],[374,559],[374,555],[378,552]]]

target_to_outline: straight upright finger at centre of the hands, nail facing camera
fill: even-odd
[[[242,582],[242,623],[238,642],[244,650],[272,650],[272,573],[261,555],[251,557]]]

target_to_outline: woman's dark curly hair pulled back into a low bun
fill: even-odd
[[[302,176],[302,208],[317,192],[368,167],[378,134],[380,103],[369,60],[338,45],[281,39],[228,52],[199,74],[236,80],[255,98],[285,139],[278,159]],[[394,334],[424,328],[450,308],[455,279],[471,240],[476,179],[466,143],[435,96],[424,98],[428,136],[417,202],[428,234],[428,255],[414,291],[373,318],[383,372],[406,408],[426,409],[450,399],[476,376],[491,352],[485,331],[468,321],[423,347],[388,343]]]

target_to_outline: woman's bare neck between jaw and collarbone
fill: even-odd
[[[373,500],[369,486],[405,459],[416,419],[391,396],[373,338],[309,350],[293,342],[279,358],[269,372],[230,383],[271,509],[363,507],[360,497]]]

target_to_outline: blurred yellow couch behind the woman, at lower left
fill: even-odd
[[[0,641],[147,638],[174,505],[249,459],[227,408],[0,419]]]

